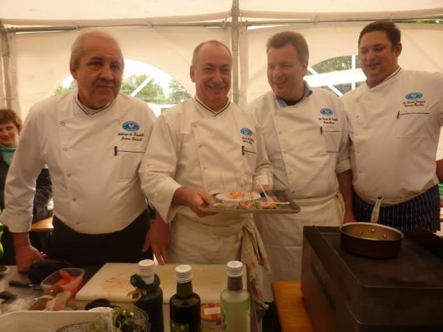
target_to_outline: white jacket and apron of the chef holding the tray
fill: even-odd
[[[213,112],[196,98],[159,116],[140,169],[143,191],[171,222],[174,262],[226,263],[238,259],[242,226],[250,214],[217,213],[199,218],[172,203],[180,187],[209,193],[272,185],[260,128],[241,107],[228,103]]]

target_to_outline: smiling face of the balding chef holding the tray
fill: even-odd
[[[211,110],[219,111],[228,103],[232,58],[224,46],[208,43],[201,46],[190,67],[195,94]]]

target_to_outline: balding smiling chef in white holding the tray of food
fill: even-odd
[[[228,99],[231,64],[224,44],[197,46],[190,67],[195,98],[161,114],[152,130],[140,173],[143,191],[161,216],[150,231],[154,253],[156,246],[161,249],[159,261],[242,259],[252,268],[266,258],[256,250],[261,239],[251,214],[208,215],[198,209],[215,202],[213,193],[272,185],[260,127]]]

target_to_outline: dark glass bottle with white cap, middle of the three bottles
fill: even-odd
[[[200,297],[192,292],[192,268],[179,265],[177,274],[177,294],[169,302],[171,332],[200,332]]]

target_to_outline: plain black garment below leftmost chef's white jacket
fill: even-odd
[[[146,209],[121,231],[109,234],[82,234],[53,217],[54,230],[48,243],[48,257],[64,259],[77,266],[104,263],[137,263],[152,259],[152,250],[141,252],[150,228]]]

